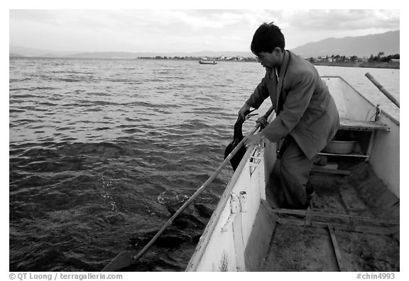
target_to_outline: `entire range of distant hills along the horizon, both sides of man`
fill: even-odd
[[[327,38],[317,42],[307,43],[292,49],[294,53],[302,57],[318,57],[331,55],[356,55],[358,57],[369,57],[383,52],[384,55],[395,55],[400,53],[399,49],[400,35],[399,31],[389,31],[381,34],[373,34],[358,37],[345,38]],[[10,46],[10,57],[77,57],[77,58],[122,58],[134,59],[137,57],[253,57],[248,51],[237,52],[178,52],[178,53],[130,53],[130,52],[56,52],[53,50],[41,50],[33,48],[23,48]],[[17,55],[18,54],[18,55]]]

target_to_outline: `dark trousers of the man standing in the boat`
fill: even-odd
[[[308,159],[297,142],[287,136],[279,152],[280,184],[283,208],[305,209],[309,205],[306,187],[309,184],[313,160]]]

